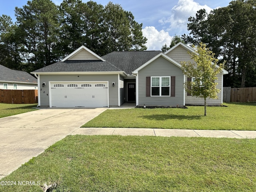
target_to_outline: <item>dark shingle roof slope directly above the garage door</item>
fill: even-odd
[[[102,60],[66,60],[35,70],[38,72],[109,72],[122,71],[110,62]]]

